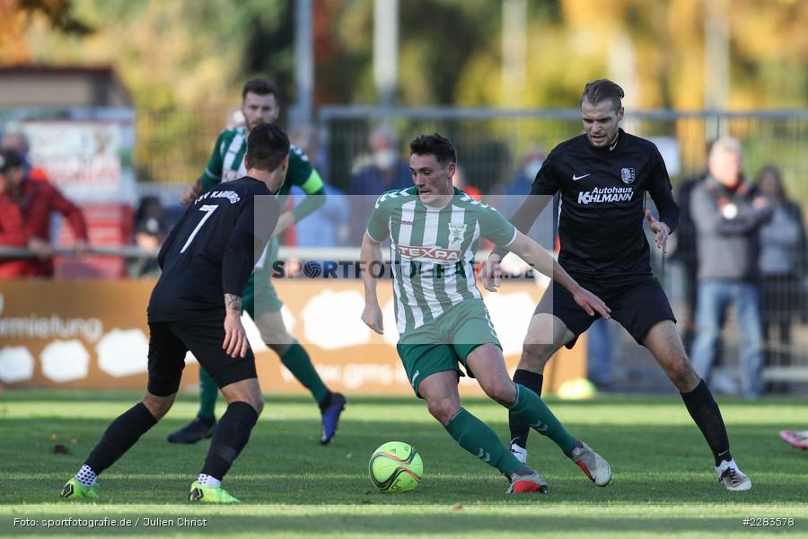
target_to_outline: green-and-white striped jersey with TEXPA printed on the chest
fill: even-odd
[[[377,242],[388,236],[391,240],[399,332],[432,322],[464,299],[481,297],[474,275],[480,238],[506,246],[516,233],[495,208],[458,189],[444,208],[423,204],[415,187],[384,193],[376,201],[367,234]]]

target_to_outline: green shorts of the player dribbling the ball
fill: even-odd
[[[422,398],[418,386],[426,376],[453,370],[460,380],[460,376],[465,376],[458,365],[461,364],[473,378],[466,358],[473,349],[488,343],[502,349],[486,305],[481,299],[466,299],[434,321],[402,333],[396,349],[409,384],[417,397]]]

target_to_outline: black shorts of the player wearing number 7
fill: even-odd
[[[148,389],[153,395],[177,393],[189,350],[220,389],[258,377],[252,349],[245,358],[231,358],[222,349],[224,322],[150,322],[149,330]]]

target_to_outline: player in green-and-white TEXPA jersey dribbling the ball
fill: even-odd
[[[518,232],[495,208],[452,187],[457,153],[435,133],[409,144],[414,187],[388,191],[376,202],[362,242],[365,306],[362,320],[382,333],[376,297],[381,243],[391,240],[391,269],[399,356],[413,389],[449,434],[510,478],[508,493],[547,490],[539,473],[519,462],[496,433],[461,407],[461,364],[494,401],[552,439],[590,480],[606,486],[611,470],[601,455],[564,429],[539,395],[514,384],[475,282],[481,238],[507,246],[556,278],[588,314],[609,317],[600,298],[580,287],[548,252]]]

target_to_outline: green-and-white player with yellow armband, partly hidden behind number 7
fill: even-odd
[[[253,128],[262,123],[275,123],[279,113],[280,104],[275,85],[262,78],[247,81],[242,89],[244,126],[222,131],[216,139],[205,171],[202,172],[196,185],[183,197],[183,202],[189,203],[201,192],[213,189],[222,181],[241,178],[247,172],[244,168],[247,136]],[[306,194],[305,199],[293,210],[285,211],[278,218],[272,240],[267,244],[255,271],[250,276],[247,288],[244,289],[244,309],[258,326],[261,339],[269,348],[275,350],[284,366],[312,393],[321,410],[320,442],[328,444],[337,432],[339,415],[345,409],[345,396],[329,391],[314,369],[309,354],[286,331],[281,316],[283,303],[270,280],[273,262],[277,258],[278,234],[325,204],[326,194],[320,174],[309,162],[303,150],[294,145],[289,149],[286,181],[277,194],[281,206],[284,205],[293,185],[303,190]],[[199,378],[202,387],[199,393],[198,416],[182,429],[172,432],[168,437],[170,442],[193,444],[213,434],[218,388],[213,378],[201,367]]]

